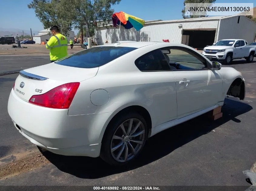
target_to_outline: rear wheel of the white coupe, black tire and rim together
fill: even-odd
[[[112,166],[130,164],[141,153],[147,135],[147,123],[137,112],[118,116],[106,128],[100,157]]]

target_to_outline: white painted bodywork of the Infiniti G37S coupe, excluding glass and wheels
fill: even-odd
[[[38,81],[21,75],[16,79],[8,100],[8,113],[16,129],[35,145],[54,153],[98,157],[105,129],[119,111],[130,106],[147,110],[152,125],[150,137],[222,106],[232,82],[236,78],[243,80],[234,68],[141,72],[135,65],[140,56],[163,47],[184,47],[202,56],[183,44],[124,42],[115,46],[138,49],[95,68],[51,63],[25,69],[25,72],[49,79]],[[190,83],[179,83],[186,80]],[[21,82],[25,83],[24,88],[20,88]],[[69,109],[28,103],[32,95],[43,94],[68,82],[80,82]],[[35,92],[35,89],[43,92]]]

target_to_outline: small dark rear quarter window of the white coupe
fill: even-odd
[[[135,60],[140,71],[170,71],[170,67],[160,49],[151,51]]]

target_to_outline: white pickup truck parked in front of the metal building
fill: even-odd
[[[256,46],[248,45],[241,39],[224,39],[213,46],[204,48],[203,53],[209,60],[230,64],[233,59],[245,58],[247,62],[252,62],[256,56]]]

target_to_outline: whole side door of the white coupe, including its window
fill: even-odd
[[[222,100],[222,77],[197,52],[185,47],[171,47],[167,54],[177,93],[177,118],[214,106]]]

